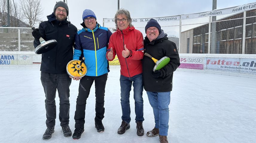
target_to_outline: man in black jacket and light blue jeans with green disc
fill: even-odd
[[[145,32],[144,52],[150,54],[155,59],[164,56],[170,57],[170,62],[160,70],[153,72],[154,61],[144,56],[142,60],[143,83],[147,91],[148,100],[153,108],[155,118],[155,128],[147,132],[147,136],[159,135],[161,143],[167,143],[170,92],[172,91],[173,72],[179,67],[179,53],[175,43],[167,38],[167,34],[161,30],[159,23],[150,19]]]

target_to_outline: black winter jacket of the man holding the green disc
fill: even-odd
[[[150,92],[169,92],[172,91],[173,72],[179,67],[179,53],[176,44],[168,40],[167,35],[163,38],[150,42],[147,37],[144,39],[144,53],[148,53],[155,59],[160,60],[164,56],[170,57],[170,62],[163,67],[161,76],[152,76],[155,62],[144,56],[142,60],[144,89]]]

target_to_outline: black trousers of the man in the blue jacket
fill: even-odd
[[[79,83],[77,105],[75,111],[75,128],[84,127],[86,100],[89,96],[93,81],[95,82],[95,120],[101,121],[104,118],[104,96],[108,74],[101,76],[84,76]]]

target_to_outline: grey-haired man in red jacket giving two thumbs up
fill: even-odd
[[[106,57],[109,61],[112,61],[115,55],[117,55],[121,65],[122,123],[117,133],[123,134],[130,128],[131,109],[129,97],[133,85],[137,135],[143,136],[143,80],[141,63],[144,55],[143,35],[132,25],[132,18],[128,10],[119,9],[116,12],[115,24],[117,31],[109,39]]]

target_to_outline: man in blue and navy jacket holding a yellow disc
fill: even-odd
[[[109,43],[109,37],[112,32],[101,27],[96,21],[96,16],[92,10],[83,11],[83,26],[75,37],[75,49],[73,59],[85,57],[87,73],[83,78],[74,77],[74,80],[80,80],[79,93],[77,96],[77,105],[75,111],[75,131],[73,139],[80,139],[84,131],[86,100],[89,96],[93,81],[95,82],[95,128],[97,132],[105,130],[102,119],[104,118],[104,96],[107,76],[109,72],[108,61],[106,59],[106,49]]]

